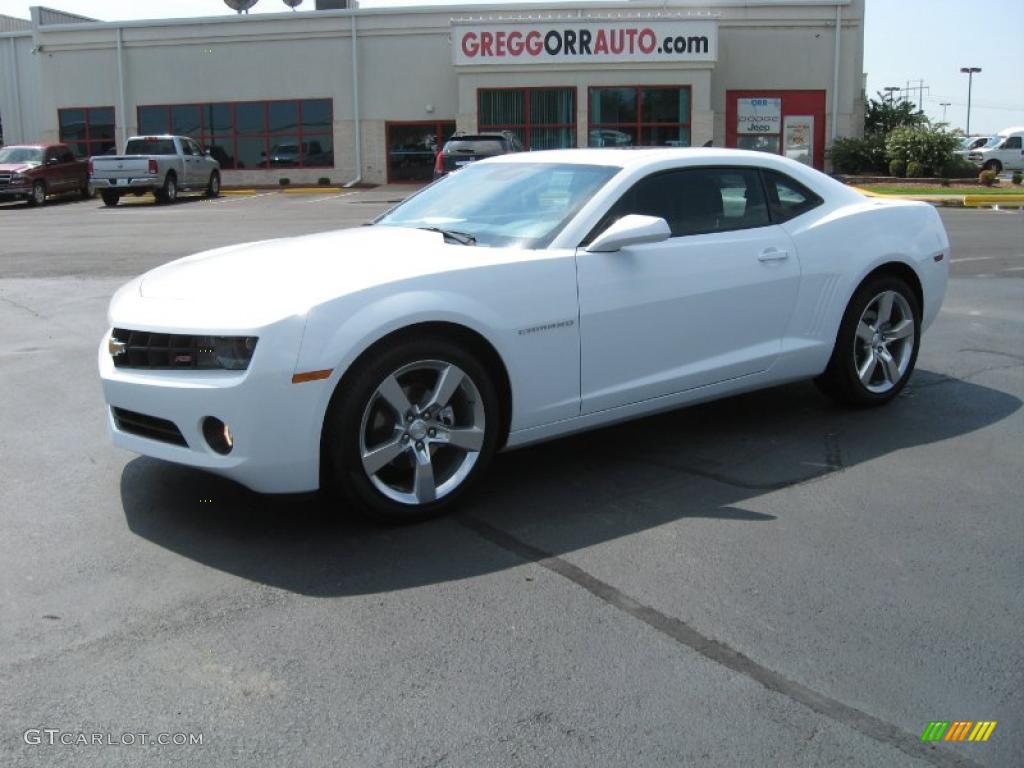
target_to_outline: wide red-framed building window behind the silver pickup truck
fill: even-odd
[[[330,98],[139,106],[138,132],[189,136],[225,169],[334,167]]]

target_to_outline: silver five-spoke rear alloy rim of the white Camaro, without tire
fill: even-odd
[[[853,365],[869,392],[884,394],[906,375],[913,358],[914,319],[898,291],[883,291],[864,307],[857,323]]]

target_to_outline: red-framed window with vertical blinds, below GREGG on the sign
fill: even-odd
[[[478,130],[511,131],[526,150],[575,146],[575,88],[481,88]]]

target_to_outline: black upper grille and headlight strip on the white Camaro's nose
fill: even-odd
[[[116,368],[245,371],[255,336],[189,336],[115,328],[106,348]]]

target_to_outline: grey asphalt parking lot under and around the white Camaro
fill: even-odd
[[[1020,763],[1024,214],[942,211],[883,410],[797,384],[512,452],[409,528],[111,445],[120,283],[402,194],[0,206],[0,765]]]

